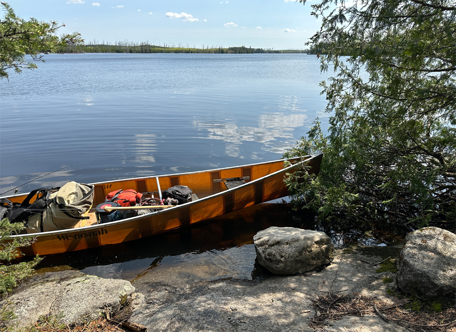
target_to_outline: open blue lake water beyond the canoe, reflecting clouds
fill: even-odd
[[[51,54],[2,79],[0,193],[282,157],[319,116],[306,54]]]

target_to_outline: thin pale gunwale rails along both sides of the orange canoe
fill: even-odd
[[[284,161],[301,159],[300,161],[298,161],[298,162],[296,162],[294,164],[291,164],[291,165],[289,165],[286,168],[283,168],[283,169],[281,169],[279,171],[276,171],[276,172],[273,172],[271,174],[265,175],[265,176],[263,176],[261,178],[252,180],[252,181],[247,182],[245,184],[242,184],[242,185],[240,185],[238,187],[235,187],[235,188],[232,188],[232,189],[227,189],[227,190],[224,190],[224,191],[220,191],[218,193],[215,193],[215,194],[200,198],[200,199],[195,200],[195,201],[187,202],[187,203],[184,203],[184,204],[179,204],[179,205],[173,206],[173,208],[163,209],[163,210],[159,210],[159,211],[156,211],[156,212],[153,212],[153,213],[150,213],[150,214],[141,215],[141,216],[135,216],[135,217],[122,219],[122,220],[118,220],[118,221],[112,221],[112,222],[109,222],[109,223],[93,224],[93,225],[90,225],[90,226],[84,226],[84,227],[78,227],[78,228],[69,228],[69,229],[61,229],[61,230],[49,231],[49,232],[16,234],[16,235],[11,235],[11,237],[12,238],[36,238],[36,237],[50,236],[50,235],[73,234],[73,233],[87,232],[87,231],[90,231],[90,230],[93,230],[93,229],[99,229],[100,227],[106,227],[106,226],[110,226],[110,225],[121,225],[121,224],[125,224],[125,223],[130,223],[132,221],[137,221],[137,220],[140,220],[140,219],[150,218],[150,217],[157,216],[157,215],[164,214],[164,213],[166,214],[169,211],[176,211],[176,210],[186,209],[186,208],[188,208],[191,205],[199,204],[199,203],[204,202],[206,200],[213,199],[214,197],[223,196],[223,195],[235,192],[237,190],[241,190],[242,188],[245,188],[245,187],[248,187],[248,186],[252,186],[255,183],[258,183],[260,181],[263,181],[265,179],[273,177],[273,176],[277,175],[278,173],[285,173],[285,172],[287,172],[287,171],[289,171],[289,170],[291,170],[293,168],[299,167],[299,165],[302,165],[303,163],[308,162],[311,159],[313,159],[314,157],[317,157],[319,155],[320,154],[307,155],[307,156],[304,156],[304,157],[296,157],[296,158],[289,158],[289,159],[278,159],[278,160],[273,160],[273,161],[266,161],[266,162],[247,164],[247,165],[240,165],[240,166],[237,166],[237,167],[221,168],[221,169],[214,169],[214,170],[189,172],[189,173],[179,173],[179,174],[171,174],[171,175],[160,175],[160,176],[157,176],[157,177],[160,178],[160,177],[170,177],[170,176],[202,174],[202,173],[207,173],[207,172],[217,172],[217,171],[221,171],[221,170],[246,168],[246,167],[251,167],[252,165],[261,165],[261,164],[268,164],[268,163],[272,163],[272,162],[279,162],[279,161],[283,161],[284,162]],[[303,159],[303,158],[306,158],[306,159]],[[106,181],[106,182],[97,182],[97,183],[93,183],[92,185],[99,185],[99,184],[112,183],[112,182],[131,181],[131,180],[143,180],[143,179],[150,179],[150,178],[154,178],[154,176],[133,178],[133,179],[119,179],[119,180]],[[15,196],[22,196],[22,195],[24,195],[24,193],[19,194],[19,195],[15,195]],[[9,197],[14,197],[14,196],[9,196]]]

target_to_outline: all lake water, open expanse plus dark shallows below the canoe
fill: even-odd
[[[327,127],[318,87],[326,76],[315,56],[45,59],[37,70],[0,80],[0,192],[67,165],[19,192],[273,160],[317,116]],[[311,228],[312,218],[282,204],[253,207],[167,235],[46,257],[41,267],[69,265],[136,282],[253,279],[267,273],[255,263],[253,235],[273,225]],[[350,242],[338,235],[331,235],[336,244]]]

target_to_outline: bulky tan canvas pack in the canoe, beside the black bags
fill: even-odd
[[[46,208],[31,216],[26,225],[27,233],[56,231],[73,228],[92,207],[94,186],[68,182],[51,194]]]

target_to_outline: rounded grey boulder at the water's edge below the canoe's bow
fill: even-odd
[[[258,263],[275,274],[304,273],[334,259],[334,244],[323,232],[273,226],[253,241]]]

